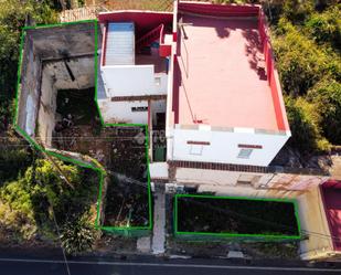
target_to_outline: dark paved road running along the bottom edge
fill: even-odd
[[[71,275],[337,275],[341,269],[233,266],[210,261],[70,261]],[[68,275],[62,261],[0,258],[1,275]]]

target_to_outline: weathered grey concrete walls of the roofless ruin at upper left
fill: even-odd
[[[25,31],[24,46],[22,52],[22,68],[21,68],[21,80],[19,87],[19,109],[18,109],[18,126],[23,129],[29,136],[34,137],[36,131],[36,119],[38,115],[41,114],[44,118],[40,118],[39,129],[40,134],[44,138],[44,142],[50,142],[46,140],[46,136],[51,136],[52,115],[50,110],[40,110],[41,106],[45,105],[45,109],[54,109],[52,103],[49,102],[49,94],[52,93],[52,86],[55,88],[79,88],[78,86],[86,82],[88,78],[86,75],[92,75],[92,80],[84,87],[89,87],[90,83],[94,85],[94,53],[95,53],[95,23],[75,23],[62,27],[53,28],[36,28],[29,29]],[[61,60],[73,60],[75,57],[88,56],[93,60],[93,63],[84,61],[83,65],[79,65],[79,71],[76,67],[78,65],[73,65],[74,61],[70,62],[71,67],[74,66],[74,74],[77,77],[77,82],[70,85],[67,81],[63,84],[64,76],[67,74],[65,65],[64,68],[62,63],[58,64]],[[51,81],[60,83],[47,84],[46,75],[42,76],[42,64],[44,62],[56,62],[56,68],[52,67],[56,74],[51,75]],[[83,62],[83,61],[82,61]],[[81,62],[81,63],[82,63]],[[92,73],[89,71],[93,71]],[[60,71],[60,73],[57,73]],[[78,74],[77,74],[78,73]],[[40,103],[41,96],[41,85],[44,80],[43,102]],[[63,78],[64,77],[64,78]],[[67,76],[70,78],[70,76]],[[45,91],[45,92],[44,92]],[[51,98],[50,98],[51,99]],[[52,101],[53,102],[53,101]],[[50,106],[51,105],[51,106]],[[44,126],[44,121],[46,125]]]

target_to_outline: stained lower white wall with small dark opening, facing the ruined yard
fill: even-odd
[[[131,107],[148,107],[148,102],[111,102],[99,99],[98,105],[103,119],[107,124],[148,124],[148,110],[131,112]]]

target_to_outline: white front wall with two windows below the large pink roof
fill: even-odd
[[[210,126],[200,126],[200,129],[177,127],[173,129],[173,148],[169,156],[171,160],[268,166],[288,138],[289,135],[255,134],[252,129],[219,131],[211,130]],[[188,145],[189,140],[207,141],[210,145]],[[263,148],[254,149],[248,159],[242,159],[237,157],[241,150],[238,144],[260,145]]]

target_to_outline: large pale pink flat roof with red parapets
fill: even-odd
[[[174,123],[278,130],[257,18],[183,14]],[[177,72],[175,72],[177,74]]]

